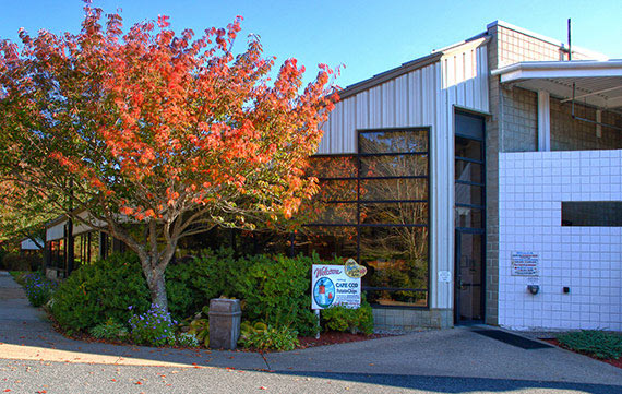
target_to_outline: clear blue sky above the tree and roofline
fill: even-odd
[[[0,0],[0,38],[17,29],[79,32],[81,0]],[[279,61],[297,58],[308,70],[344,64],[345,87],[435,48],[471,37],[495,20],[622,59],[622,0],[94,0],[105,12],[121,9],[127,25],[169,15],[172,28],[224,27],[242,15],[242,35],[259,34]],[[238,41],[237,48],[241,49]],[[313,72],[314,74],[314,72]],[[311,75],[309,75],[310,77]]]

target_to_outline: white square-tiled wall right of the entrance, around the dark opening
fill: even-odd
[[[622,151],[501,153],[499,171],[499,324],[622,331],[622,228],[561,226],[562,201],[622,201]],[[513,251],[539,253],[536,296]]]

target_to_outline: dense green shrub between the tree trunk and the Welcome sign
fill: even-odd
[[[213,298],[242,301],[243,318],[315,333],[310,310],[311,265],[318,256],[253,255],[234,259],[229,249],[203,251],[193,261],[166,271],[169,310],[175,319],[192,315]]]

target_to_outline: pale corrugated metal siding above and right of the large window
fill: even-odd
[[[440,61],[345,98],[324,128],[319,154],[356,153],[357,130],[431,127],[430,307],[451,308],[453,273],[454,105],[488,112],[488,60],[482,40]]]

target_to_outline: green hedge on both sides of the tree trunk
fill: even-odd
[[[243,319],[288,326],[301,335],[314,330],[310,310],[311,265],[318,256],[253,255],[235,259],[230,250],[204,251],[166,271],[169,311],[181,320],[217,297],[241,300]],[[339,261],[331,262],[339,264]],[[137,259],[116,254],[76,270],[59,287],[51,311],[67,330],[85,331],[109,318],[127,323],[151,305]]]

